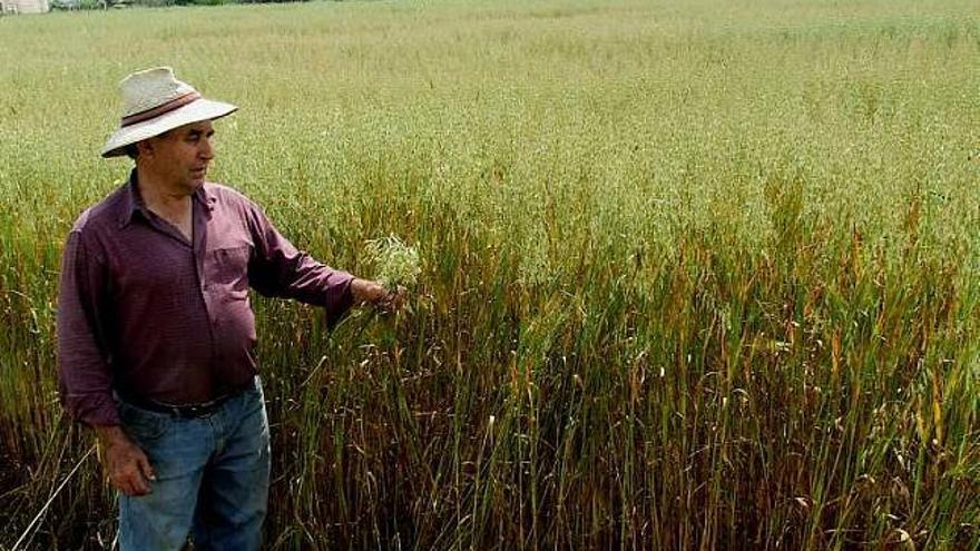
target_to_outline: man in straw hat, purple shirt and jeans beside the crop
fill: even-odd
[[[257,549],[268,423],[248,287],[318,305],[396,309],[404,291],[317,263],[245,196],[205,181],[213,121],[169,68],[121,82],[125,115],[102,157],[129,181],[68,236],[58,309],[61,400],[92,426],[119,499],[122,550]]]

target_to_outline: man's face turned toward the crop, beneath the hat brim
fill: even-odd
[[[146,167],[171,189],[193,194],[204,184],[214,159],[213,136],[212,122],[204,120],[150,138]]]

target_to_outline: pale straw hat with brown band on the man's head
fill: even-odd
[[[119,82],[119,88],[122,120],[102,147],[102,157],[126,155],[127,146],[238,109],[231,104],[204,99],[190,85],[177,80],[169,67],[134,72]]]

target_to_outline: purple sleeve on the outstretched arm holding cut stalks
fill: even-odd
[[[255,244],[248,263],[252,288],[265,296],[322,306],[329,325],[334,325],[353,305],[351,282],[354,277],[298,250],[257,206],[249,206],[248,225]]]

